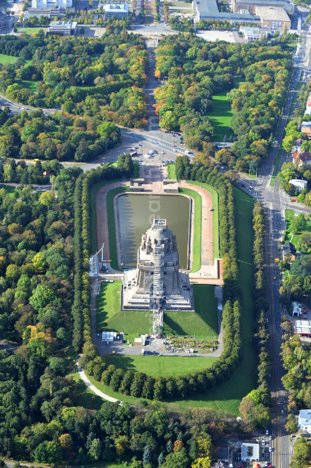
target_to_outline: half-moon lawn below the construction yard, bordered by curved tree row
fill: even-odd
[[[122,369],[145,372],[152,377],[166,375],[186,375],[207,369],[217,358],[200,358],[198,356],[107,356],[105,361]]]

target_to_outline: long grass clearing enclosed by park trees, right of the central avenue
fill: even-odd
[[[231,102],[227,101],[227,91],[214,95],[213,104],[214,109],[208,113],[208,117],[215,127],[215,140],[224,141],[224,135],[227,137],[233,135],[230,122],[234,111],[231,109]]]

